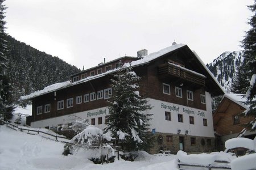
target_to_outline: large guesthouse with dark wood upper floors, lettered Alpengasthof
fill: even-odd
[[[32,100],[29,123],[34,128],[52,128],[66,124],[70,115],[76,115],[104,128],[108,99],[114,94],[110,79],[118,67],[127,66],[141,76],[139,92],[153,107],[147,111],[152,114],[150,130],[155,136],[152,153],[213,149],[211,97],[225,92],[199,56],[185,44],[173,44],[149,55],[143,50],[138,57],[104,62],[72,75],[68,82],[23,96],[22,99]]]

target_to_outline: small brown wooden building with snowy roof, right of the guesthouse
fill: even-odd
[[[243,131],[245,124],[252,121],[253,117],[242,116],[248,106],[243,104],[246,98],[242,94],[225,94],[221,103],[213,114],[213,126],[217,135],[217,147],[224,150],[224,143],[231,138],[243,136],[254,139],[256,132]]]

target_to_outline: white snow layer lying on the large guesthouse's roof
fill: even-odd
[[[158,52],[148,54],[147,56],[143,56],[141,59],[139,59],[137,61],[132,61],[131,63],[124,63],[122,68],[126,68],[126,67],[129,67],[129,66],[135,67],[135,66],[139,66],[139,65],[144,65],[144,64],[146,64],[146,63],[148,63],[148,62],[150,62],[150,61],[152,61],[152,60],[154,60],[154,59],[156,59],[158,57],[163,56],[164,54],[167,54],[167,53],[170,53],[170,52],[172,52],[172,51],[174,51],[176,49],[182,48],[183,46],[186,46],[186,44],[175,44],[175,45],[172,45],[172,46],[168,46],[167,48],[161,49]],[[195,54],[197,59],[200,61],[201,65],[203,65],[204,68],[208,71],[209,75],[212,76],[212,78],[215,80],[215,82],[218,84],[218,86],[221,88],[221,90],[223,92],[225,92],[223,90],[223,88],[221,87],[221,85],[214,78],[212,73],[210,73],[209,69],[204,65],[204,62],[201,61],[200,57],[195,52],[193,52],[193,53]],[[102,73],[102,74],[97,74],[97,75],[94,75],[94,76],[88,76],[85,79],[81,79],[81,80],[79,80],[77,82],[73,82],[73,83],[70,82],[70,81],[67,81],[67,82],[63,82],[63,83],[52,84],[50,86],[47,86],[43,90],[35,91],[32,94],[27,95],[27,96],[21,96],[20,100],[32,99],[32,98],[40,96],[40,95],[48,94],[49,92],[60,90],[60,89],[66,88],[66,87],[70,87],[70,86],[76,85],[76,84],[88,82],[90,80],[100,78],[102,76],[114,73],[116,71],[117,71],[117,69],[109,70],[109,71],[106,71],[105,73]],[[197,74],[199,74],[199,73],[197,73]]]

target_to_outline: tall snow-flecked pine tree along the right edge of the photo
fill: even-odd
[[[254,120],[247,124],[247,127],[254,131],[256,130],[256,1],[254,1],[254,5],[248,7],[254,15],[248,22],[252,28],[246,32],[245,39],[242,41],[247,78],[249,79],[245,97],[246,104],[250,107],[246,110],[245,115],[254,117]]]

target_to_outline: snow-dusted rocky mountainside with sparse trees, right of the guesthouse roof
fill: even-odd
[[[226,91],[230,91],[232,79],[234,78],[237,67],[243,61],[242,52],[224,52],[219,57],[207,64],[208,69],[213,73]]]

